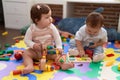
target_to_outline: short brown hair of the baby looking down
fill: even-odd
[[[87,16],[86,24],[90,25],[91,27],[102,27],[104,22],[104,18],[102,14],[97,12],[92,12]]]

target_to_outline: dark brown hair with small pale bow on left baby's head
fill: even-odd
[[[48,14],[50,11],[50,7],[46,4],[34,4],[31,8],[30,15],[33,23],[36,24],[36,20],[39,21],[41,19],[42,14]]]

